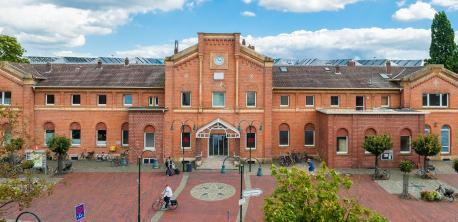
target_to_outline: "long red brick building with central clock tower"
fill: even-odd
[[[28,146],[64,135],[74,156],[128,147],[152,151],[146,158],[205,159],[251,149],[261,160],[304,152],[333,167],[369,167],[364,137],[389,134],[393,159],[381,164],[394,167],[418,160],[411,140],[433,133],[438,158],[456,158],[457,94],[458,75],[441,65],[278,66],[238,33],[199,33],[164,65],[0,65],[0,104],[22,111]]]

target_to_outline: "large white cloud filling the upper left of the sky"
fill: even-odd
[[[89,35],[107,35],[132,16],[193,7],[204,0],[0,1],[2,33],[34,49],[83,46]]]

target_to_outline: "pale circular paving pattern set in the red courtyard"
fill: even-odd
[[[191,189],[191,196],[203,201],[225,200],[235,194],[235,188],[225,183],[203,183]]]

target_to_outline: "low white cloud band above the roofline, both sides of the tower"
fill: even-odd
[[[458,33],[458,32],[457,32]],[[244,36],[256,51],[277,58],[390,58],[423,59],[428,57],[429,29],[360,28],[299,30],[272,36]],[[458,39],[457,39],[458,40]],[[197,42],[188,38],[180,42],[184,49]],[[137,46],[115,53],[120,57],[163,58],[173,54],[173,44]]]

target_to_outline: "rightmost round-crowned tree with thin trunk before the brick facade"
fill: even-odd
[[[441,145],[437,135],[420,135],[412,142],[412,147],[415,152],[424,157],[423,160],[423,177],[426,177],[426,169],[428,166],[428,157],[435,156],[440,152]]]

